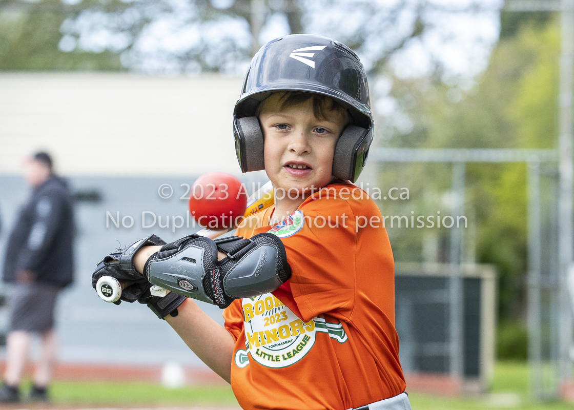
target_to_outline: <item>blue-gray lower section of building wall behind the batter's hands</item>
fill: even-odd
[[[164,363],[174,360],[185,365],[204,366],[181,341],[164,320],[144,305],[122,303],[114,305],[99,299],[91,285],[91,274],[96,264],[112,250],[125,246],[152,233],[166,241],[173,241],[197,230],[189,219],[187,227],[187,200],[181,200],[189,178],[129,178],[129,177],[76,177],[69,179],[78,198],[100,196],[99,202],[78,200],[76,203],[75,281],[65,289],[57,304],[56,326],[60,338],[61,361],[92,363]],[[246,182],[249,180],[245,180]],[[169,199],[158,195],[158,187],[170,184],[174,194]],[[250,184],[247,183],[249,186]],[[249,187],[251,191],[251,187]],[[21,177],[0,176],[0,266],[5,258],[6,241],[18,216],[20,205],[29,194]],[[133,226],[126,228],[113,218],[133,218]],[[153,227],[142,227],[142,211],[157,215]],[[173,217],[180,215],[184,226],[173,227]],[[106,218],[107,216],[107,218]],[[151,214],[148,214],[151,216]],[[166,218],[169,227],[165,226]],[[146,225],[151,225],[149,218]],[[177,219],[177,225],[181,225]],[[129,218],[125,225],[130,225]],[[0,284],[0,293],[10,292],[9,285]],[[223,324],[219,308],[198,302],[216,322]],[[0,334],[6,331],[6,310],[0,307]],[[1,353],[1,350],[0,350]]]

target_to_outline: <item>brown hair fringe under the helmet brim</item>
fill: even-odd
[[[320,119],[328,119],[327,115],[329,113],[335,113],[339,114],[343,118],[343,122],[345,124],[351,122],[351,116],[349,115],[349,111],[340,106],[335,99],[327,95],[315,94],[313,92],[306,92],[306,91],[280,91],[280,93],[281,96],[279,98],[278,105],[281,110],[285,110],[288,109],[289,107],[300,105],[312,99],[313,114],[315,115],[315,117]],[[255,111],[256,117],[259,118],[259,115],[263,110],[263,106],[265,106],[265,101],[271,98],[271,96],[267,97],[259,104],[257,110]]]

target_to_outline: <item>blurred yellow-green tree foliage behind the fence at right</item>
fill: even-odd
[[[488,68],[468,90],[436,78],[395,79],[391,94],[409,115],[411,126],[408,132],[387,129],[383,143],[421,148],[555,147],[559,46],[555,21],[527,22],[515,36],[499,41]],[[449,167],[419,164],[408,167],[408,172],[404,168],[399,172],[390,167],[384,178],[408,180],[405,183],[417,187],[414,206],[425,212],[449,211],[445,200],[451,184]],[[467,165],[466,214],[474,219],[476,231],[466,231],[466,245],[474,247],[466,257],[472,262],[468,255],[474,255],[477,262],[497,265],[502,318],[525,314],[526,171],[525,164]],[[422,252],[421,237],[430,234],[396,233],[395,256],[412,259],[409,250]],[[443,249],[437,259],[448,261],[448,230],[437,235]]]

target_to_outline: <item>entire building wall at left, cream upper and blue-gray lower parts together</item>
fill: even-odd
[[[235,158],[232,111],[241,85],[242,78],[218,75],[0,74],[0,266],[9,231],[29,193],[20,176],[23,157],[48,150],[56,171],[68,177],[74,192],[84,199],[94,193],[101,198],[77,203],[76,280],[57,307],[61,360],[176,360],[202,366],[148,308],[101,301],[91,287],[91,273],[119,245],[151,233],[167,241],[193,233],[192,227],[172,227],[173,216],[181,215],[187,223],[187,200],[180,199],[186,188],[181,184],[191,185],[211,171],[244,181],[265,180],[264,172],[242,175]],[[158,195],[165,183],[173,187],[170,199]],[[169,216],[169,228],[158,228],[158,222],[142,228],[145,210],[161,216],[162,225]],[[114,218],[118,211],[121,218],[132,216],[134,226],[116,228],[108,219],[106,227],[107,211]],[[0,292],[9,288],[0,284]],[[218,308],[202,307],[222,323]],[[5,328],[6,312],[0,308],[0,334]]]

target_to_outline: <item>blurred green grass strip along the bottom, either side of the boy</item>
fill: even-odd
[[[145,382],[73,382],[56,381],[51,390],[52,407],[82,405],[91,407],[181,407],[237,406],[230,386],[206,385],[166,389]],[[528,396],[526,362],[498,362],[490,392],[482,397],[449,399],[428,394],[409,393],[413,410],[528,409],[566,410],[574,404],[564,402],[533,403]]]

